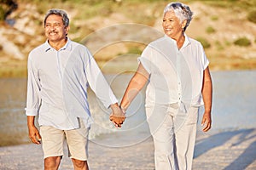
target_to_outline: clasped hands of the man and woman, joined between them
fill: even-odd
[[[113,122],[115,127],[122,127],[125,122],[125,113],[119,108],[119,105],[111,105],[112,113],[109,116],[109,120]]]

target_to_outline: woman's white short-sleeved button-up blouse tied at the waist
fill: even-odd
[[[201,42],[185,35],[183,47],[168,36],[150,42],[138,58],[149,73],[146,105],[203,105],[203,72],[209,64]]]

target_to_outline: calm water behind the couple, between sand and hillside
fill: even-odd
[[[106,76],[119,100],[131,76]],[[212,72],[212,82],[212,129],[255,128],[256,71],[216,71]],[[29,142],[24,111],[26,79],[3,78],[0,79],[0,87],[0,146]],[[93,142],[101,144],[101,139],[106,138],[108,133],[113,133],[115,139],[125,136],[125,143],[122,140],[121,145],[137,143],[150,136],[143,107],[144,89],[131,104],[121,129],[113,127],[108,121],[110,110],[105,109],[91,91],[89,98],[90,111],[95,122],[90,129],[90,140]],[[201,113],[202,111],[201,109]],[[200,121],[201,119],[199,123]],[[104,142],[112,143],[111,140],[113,139],[104,139]]]

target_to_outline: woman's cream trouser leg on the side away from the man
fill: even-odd
[[[177,163],[180,170],[192,169],[197,119],[198,107],[190,107],[185,122],[175,133]]]

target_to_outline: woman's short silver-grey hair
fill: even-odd
[[[164,14],[168,11],[173,11],[177,18],[182,22],[183,20],[187,20],[186,26],[183,28],[183,31],[186,31],[189,26],[190,21],[192,20],[193,12],[190,10],[189,6],[183,3],[169,3],[166,5],[164,9]]]

